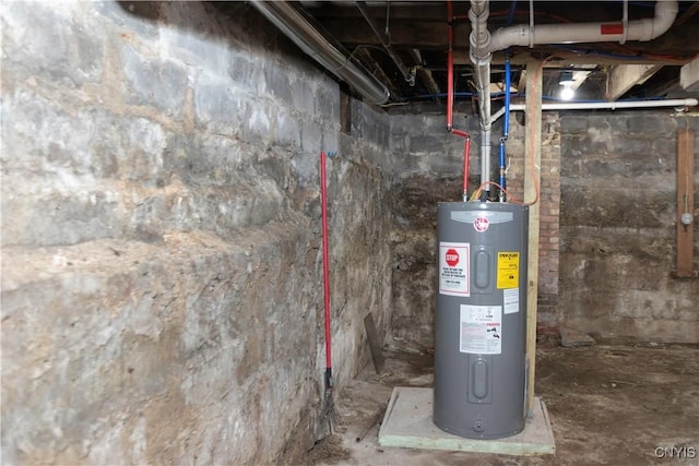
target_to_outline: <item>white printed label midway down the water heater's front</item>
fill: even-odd
[[[461,304],[459,350],[472,355],[502,353],[502,307]]]

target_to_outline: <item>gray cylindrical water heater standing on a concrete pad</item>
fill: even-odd
[[[528,220],[517,204],[437,207],[434,421],[449,433],[524,429]]]

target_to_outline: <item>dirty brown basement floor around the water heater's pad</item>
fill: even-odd
[[[308,452],[307,464],[699,465],[697,346],[540,344],[536,396],[546,403],[556,441],[556,454],[541,456],[379,446],[393,386],[433,384],[433,357],[424,349],[394,340],[381,374],[366,367],[336,399],[336,433]],[[661,457],[673,447],[674,458]]]

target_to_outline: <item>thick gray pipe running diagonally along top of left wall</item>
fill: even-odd
[[[389,100],[389,89],[380,81],[330,44],[289,2],[254,0],[250,3],[304,52],[347,82],[367,101],[382,105]]]

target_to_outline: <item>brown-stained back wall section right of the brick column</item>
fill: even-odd
[[[699,134],[699,119],[636,110],[560,120],[561,325],[607,338],[699,342],[698,283],[671,276],[677,130]]]

